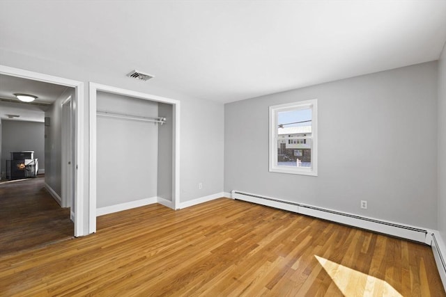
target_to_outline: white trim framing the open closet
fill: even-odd
[[[146,93],[140,93],[134,90],[126,90],[123,88],[116,88],[114,86],[106,86],[99,83],[89,83],[89,124],[90,124],[90,160],[89,160],[89,232],[93,233],[96,231],[96,151],[97,151],[97,143],[96,143],[96,100],[98,91],[112,93],[117,95],[125,95],[128,97],[135,97],[140,99],[151,100],[155,102],[162,102],[173,105],[173,125],[174,125],[174,152],[173,152],[173,160],[172,160],[172,172],[174,177],[172,178],[174,184],[172,185],[172,195],[174,197],[173,200],[173,209],[178,209],[179,201],[180,201],[180,102],[175,99],[169,99],[165,97],[160,97],[156,95],[150,95]]]

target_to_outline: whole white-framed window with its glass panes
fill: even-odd
[[[317,176],[317,99],[270,106],[270,172]]]

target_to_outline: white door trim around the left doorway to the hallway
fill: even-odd
[[[62,77],[54,77],[52,75],[31,72],[14,67],[0,65],[0,74],[13,77],[22,77],[33,81],[44,81],[62,86],[75,88],[75,164],[77,167],[75,174],[75,236],[88,234],[84,232],[84,83],[82,81],[74,81],[72,79],[64,79]],[[86,198],[88,199],[88,197]]]

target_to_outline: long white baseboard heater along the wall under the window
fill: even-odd
[[[376,220],[374,218],[347,214],[331,209],[323,209],[321,207],[314,207],[307,204],[295,203],[252,193],[232,191],[231,195],[233,199],[244,200],[247,202],[266,205],[268,207],[275,207],[277,209],[293,211],[298,214],[305,214],[307,216],[322,218],[324,220],[331,220],[336,223],[351,225],[353,227],[358,227],[431,245],[431,233],[429,233],[427,230],[423,230],[417,227],[387,222],[385,220]]]

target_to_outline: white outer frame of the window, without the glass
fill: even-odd
[[[283,111],[295,111],[300,109],[312,109],[312,167],[278,166],[277,165],[277,122],[278,113]],[[270,172],[291,173],[295,175],[318,175],[318,102],[317,99],[291,102],[270,106]]]

